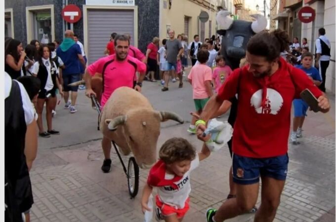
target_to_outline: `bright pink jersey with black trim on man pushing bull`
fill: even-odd
[[[103,75],[104,91],[101,98],[101,106],[104,107],[106,101],[117,88],[122,86],[133,88],[135,72],[145,72],[146,64],[129,55],[124,61],[118,61],[114,54],[98,59],[88,66],[87,71],[91,76],[95,73]]]

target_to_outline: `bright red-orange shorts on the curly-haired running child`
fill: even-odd
[[[176,209],[173,206],[167,205],[163,202],[161,202],[159,195],[156,195],[156,214],[159,219],[164,219],[163,217],[168,217],[170,215],[176,214],[177,218],[183,218],[184,215],[187,213],[189,210],[189,197],[185,201],[184,208],[183,209]]]

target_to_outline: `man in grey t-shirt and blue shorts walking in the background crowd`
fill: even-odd
[[[177,61],[181,60],[181,55],[183,53],[182,43],[175,38],[174,30],[169,30],[169,39],[166,42],[166,70],[165,72],[165,86],[161,89],[162,91],[168,90],[169,76],[172,76],[173,72],[177,71]],[[177,73],[177,72],[176,72]],[[183,86],[182,82],[182,72],[178,73],[180,79],[179,87]]]

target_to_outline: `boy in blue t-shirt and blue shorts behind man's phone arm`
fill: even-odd
[[[301,55],[302,65],[297,68],[303,70],[316,86],[321,85],[322,78],[319,71],[313,67],[313,54],[310,52],[303,53]],[[296,145],[296,138],[302,137],[302,125],[304,117],[307,115],[308,104],[302,99],[295,99],[294,105],[294,120],[293,120],[293,132],[291,133],[291,142]]]

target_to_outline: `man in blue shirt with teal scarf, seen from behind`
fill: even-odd
[[[62,59],[65,65],[65,69],[63,70],[64,108],[70,108],[70,112],[75,113],[77,112],[75,104],[78,86],[69,87],[68,84],[81,80],[80,64],[82,63],[84,70],[86,68],[86,64],[82,55],[81,47],[79,44],[76,44],[74,40],[73,31],[65,31],[63,42],[57,48],[56,54]],[[71,91],[71,102],[69,101],[69,91]]]

